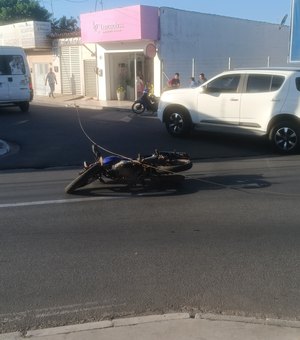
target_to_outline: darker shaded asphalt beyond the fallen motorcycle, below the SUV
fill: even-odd
[[[18,108],[0,108],[0,139],[9,142],[13,151],[1,158],[0,170],[72,166],[91,159],[90,141],[78,119],[93,141],[129,157],[154,149],[185,151],[193,159],[249,157],[271,152],[264,139],[254,136],[195,132],[188,139],[173,138],[153,115],[33,104],[28,114]]]

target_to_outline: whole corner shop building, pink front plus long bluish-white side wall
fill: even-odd
[[[82,41],[97,46],[102,100],[116,99],[116,88],[124,82],[127,99],[135,99],[139,74],[160,95],[175,72],[186,87],[201,72],[210,78],[233,68],[288,65],[289,27],[265,22],[131,6],[83,14],[81,30]],[[153,45],[156,53],[147,55],[147,46]]]

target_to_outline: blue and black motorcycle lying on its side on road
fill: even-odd
[[[152,155],[138,155],[130,159],[119,155],[102,157],[97,145],[92,144],[95,161],[84,162],[84,168],[69,185],[65,192],[73,193],[96,180],[102,184],[126,184],[128,187],[138,185],[179,184],[185,176],[177,174],[193,166],[190,157],[185,152],[157,151]]]

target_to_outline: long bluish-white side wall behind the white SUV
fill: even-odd
[[[289,34],[288,26],[160,8],[162,83],[174,72],[184,85],[201,72],[288,66]]]

